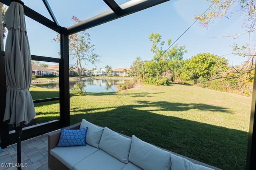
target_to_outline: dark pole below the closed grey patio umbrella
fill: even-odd
[[[17,169],[21,170],[21,134],[22,134],[23,123],[15,127],[15,132],[17,135]]]

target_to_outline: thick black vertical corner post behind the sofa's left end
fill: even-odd
[[[60,34],[60,123],[70,125],[68,35]]]

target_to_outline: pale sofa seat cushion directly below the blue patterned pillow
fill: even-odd
[[[60,162],[66,165],[69,169],[73,166],[99,150],[98,148],[90,145],[86,146],[73,146],[73,147],[56,147],[50,150],[50,154],[57,158]]]

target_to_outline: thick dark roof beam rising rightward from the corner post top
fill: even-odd
[[[127,16],[134,12],[138,12],[144,10],[146,8],[150,8],[152,6],[161,4],[163,2],[167,2],[169,0],[136,0],[136,1],[129,1],[125,4],[122,4],[120,7],[122,8],[122,14],[120,16],[116,15],[112,10],[94,16],[88,20],[84,20],[76,25],[72,25],[67,28],[68,34],[77,33],[79,31],[95,27],[102,23],[106,23],[108,21],[112,21],[123,16]]]

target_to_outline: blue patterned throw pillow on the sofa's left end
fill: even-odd
[[[85,136],[88,127],[84,129],[61,129],[60,141],[57,147],[85,146]]]

